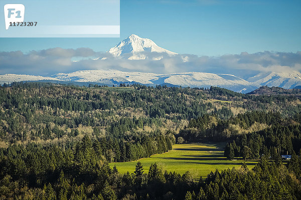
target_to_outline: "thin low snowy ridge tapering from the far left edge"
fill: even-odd
[[[28,80],[59,80],[55,77],[45,77],[40,75],[25,75],[25,74],[12,74],[7,73],[0,75],[0,84],[11,83],[14,81],[28,81]]]

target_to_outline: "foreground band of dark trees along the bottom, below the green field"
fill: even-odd
[[[299,199],[300,156],[288,163],[277,165],[261,158],[253,169],[242,163],[240,168],[216,170],[206,178],[195,181],[187,171],[183,175],[163,171],[157,164],[150,165],[148,173],[137,162],[134,173],[120,174],[114,166],[98,164],[93,176],[75,175],[78,168],[57,171],[51,179],[30,185],[28,176],[18,179],[2,174],[1,198],[14,199]],[[83,169],[85,175],[90,169]],[[29,177],[28,177],[29,178]]]

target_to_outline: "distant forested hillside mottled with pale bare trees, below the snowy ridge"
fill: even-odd
[[[205,114],[224,119],[259,110],[291,117],[301,108],[298,95],[254,96],[219,87],[87,88],[47,83],[1,87],[0,104],[0,135],[6,144],[70,138],[75,130],[94,136],[178,132],[188,120]]]

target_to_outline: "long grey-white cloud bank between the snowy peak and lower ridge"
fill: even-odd
[[[124,55],[131,57],[132,53]],[[85,69],[117,69],[156,73],[171,72],[212,72],[230,73],[240,77],[250,77],[258,72],[301,71],[301,51],[256,53],[242,52],[221,56],[197,56],[166,52],[136,52],[142,59],[125,59],[108,52],[95,52],[91,48],[49,48],[22,51],[0,52],[0,74],[52,75],[59,72],[72,72]]]

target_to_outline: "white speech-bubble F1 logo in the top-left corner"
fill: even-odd
[[[23,4],[5,4],[5,28],[9,29],[11,22],[23,22],[25,6]]]

